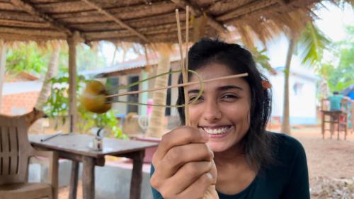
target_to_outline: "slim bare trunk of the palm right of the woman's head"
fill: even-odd
[[[285,132],[290,135],[290,99],[289,99],[289,76],[290,76],[290,64],[292,59],[292,54],[294,52],[295,40],[290,38],[289,48],[287,50],[287,60],[285,64],[284,71],[284,104],[282,108],[282,127],[281,132]]]

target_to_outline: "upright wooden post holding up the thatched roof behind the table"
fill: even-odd
[[[76,132],[76,44],[78,41],[78,32],[75,32],[67,38],[67,43],[69,45],[69,132]]]

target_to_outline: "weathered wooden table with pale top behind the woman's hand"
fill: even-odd
[[[59,135],[41,142],[48,135],[29,136],[33,147],[57,151],[59,157],[72,160],[69,199],[76,198],[79,162],[83,163],[82,188],[84,199],[95,198],[95,166],[104,166],[105,155],[127,157],[133,160],[132,180],[130,182],[130,199],[139,199],[142,187],[142,164],[145,149],[155,147],[157,143],[135,140],[103,139],[103,150],[90,149],[93,136],[71,133]]]

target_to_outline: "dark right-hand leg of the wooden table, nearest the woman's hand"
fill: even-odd
[[[145,151],[137,152],[133,157],[132,180],[130,181],[130,199],[140,199],[142,192],[142,164]]]

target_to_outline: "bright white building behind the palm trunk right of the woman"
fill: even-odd
[[[268,75],[273,90],[271,123],[281,123],[284,103],[284,67],[275,69],[277,74]],[[292,65],[289,82],[290,125],[317,123],[316,81],[318,79],[312,69]]]

